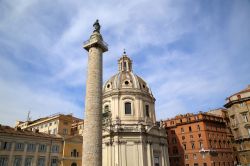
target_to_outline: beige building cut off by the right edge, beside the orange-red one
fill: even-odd
[[[250,85],[226,99],[235,148],[242,165],[250,165]]]

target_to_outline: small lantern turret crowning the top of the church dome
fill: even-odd
[[[122,57],[118,60],[119,72],[131,72],[132,60],[127,56],[124,49]]]

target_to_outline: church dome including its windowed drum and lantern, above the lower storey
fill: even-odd
[[[147,83],[132,71],[132,61],[123,53],[118,60],[119,72],[103,86],[103,113],[123,124],[153,124],[155,98]]]

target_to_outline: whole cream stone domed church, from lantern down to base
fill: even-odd
[[[169,166],[167,134],[157,125],[155,98],[133,73],[126,52],[103,86],[103,166]]]

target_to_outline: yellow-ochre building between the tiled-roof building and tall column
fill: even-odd
[[[83,120],[71,114],[54,114],[29,121],[18,121],[16,128],[21,130],[45,133],[62,140],[60,151],[61,166],[82,165],[82,130]]]

